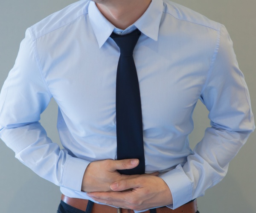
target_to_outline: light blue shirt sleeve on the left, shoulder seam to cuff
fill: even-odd
[[[17,159],[39,176],[58,186],[81,191],[89,162],[61,150],[39,123],[51,98],[28,29],[0,93],[0,138]]]

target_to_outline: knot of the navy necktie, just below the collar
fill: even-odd
[[[132,56],[134,47],[140,37],[140,30],[136,29],[133,32],[126,35],[111,34],[111,38],[116,42],[120,49],[120,55],[127,57]]]

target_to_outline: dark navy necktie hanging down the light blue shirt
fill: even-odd
[[[119,173],[126,175],[145,173],[140,88],[133,58],[140,34],[138,29],[127,35],[111,34],[120,49],[116,74],[117,159],[140,160],[134,169],[119,170]]]

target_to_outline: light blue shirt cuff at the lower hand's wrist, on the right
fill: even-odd
[[[192,185],[181,165],[159,177],[166,182],[172,193],[173,204],[167,207],[176,209],[192,200]]]

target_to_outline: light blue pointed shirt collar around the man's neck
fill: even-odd
[[[144,35],[157,41],[160,20],[163,14],[163,1],[152,0],[146,12],[133,25],[123,31],[116,29],[116,27],[105,18],[93,1],[90,1],[88,14],[99,48],[102,47],[113,31],[119,31],[124,35],[133,31],[135,28],[139,29]]]

